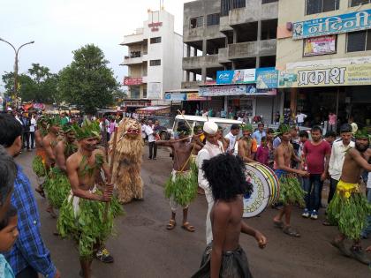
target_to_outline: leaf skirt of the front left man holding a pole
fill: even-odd
[[[95,192],[102,194],[102,192]],[[110,201],[107,218],[104,218],[106,203],[79,198],[79,209],[75,214],[72,197],[64,200],[59,210],[57,230],[61,237],[70,237],[79,244],[79,256],[92,259],[97,244],[113,234],[113,220],[124,210],[116,197]]]

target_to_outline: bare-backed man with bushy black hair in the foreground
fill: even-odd
[[[192,277],[251,278],[246,253],[239,245],[239,236],[244,233],[254,237],[260,248],[265,247],[267,238],[242,220],[242,196],[251,190],[251,184],[246,183],[245,164],[234,155],[219,154],[204,162],[202,169],[215,199],[210,214],[213,242],[206,247],[201,269]]]

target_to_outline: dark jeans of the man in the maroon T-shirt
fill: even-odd
[[[310,174],[309,177],[303,178],[303,189],[306,193],[306,208],[309,211],[320,208],[321,205],[321,174]]]

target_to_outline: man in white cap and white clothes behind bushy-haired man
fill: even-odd
[[[202,164],[205,160],[209,160],[218,154],[223,154],[223,146],[217,140],[216,133],[218,127],[214,122],[206,122],[203,125],[203,131],[206,137],[206,144],[197,155],[196,164],[199,168],[199,186],[205,191],[205,197],[208,201],[208,215],[206,218],[206,244],[213,241],[213,233],[211,229],[210,212],[214,205],[214,198],[211,192],[211,188],[208,184],[208,180],[204,177]]]

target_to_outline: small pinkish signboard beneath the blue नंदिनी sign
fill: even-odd
[[[304,56],[318,56],[337,53],[335,34],[308,38],[304,42]]]

